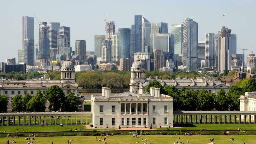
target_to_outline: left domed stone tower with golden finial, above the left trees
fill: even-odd
[[[67,55],[67,60],[65,60],[60,69],[61,72],[61,83],[75,83],[75,68],[73,63],[69,60],[69,55]]]

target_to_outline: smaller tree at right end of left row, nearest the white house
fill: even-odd
[[[75,93],[70,92],[66,98],[65,110],[69,112],[77,111],[79,105],[79,99],[75,96]]]

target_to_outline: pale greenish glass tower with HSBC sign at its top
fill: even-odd
[[[173,24],[171,25],[171,33],[174,34],[174,54],[182,54],[182,42],[183,42],[183,25]]]

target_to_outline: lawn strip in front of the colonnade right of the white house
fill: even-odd
[[[169,130],[202,130],[206,128],[207,130],[237,130],[241,128],[242,130],[256,130],[255,124],[179,124],[174,125],[174,128],[169,128]],[[157,128],[158,130],[165,130],[167,128]],[[255,138],[256,139],[256,138]]]

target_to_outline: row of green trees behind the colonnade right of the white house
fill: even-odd
[[[158,81],[152,81],[146,88],[150,92],[150,87],[160,88],[160,92],[173,97],[173,110],[184,111],[226,111],[240,109],[240,95],[238,86],[232,86],[229,92],[220,89],[217,94],[207,90],[195,91],[188,88],[182,88],[178,91],[173,85],[163,87]],[[235,90],[235,91],[234,91]]]

